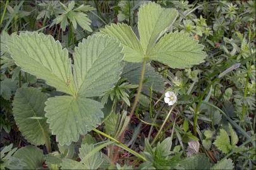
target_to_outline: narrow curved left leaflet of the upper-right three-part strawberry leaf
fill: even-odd
[[[130,62],[142,62],[143,48],[131,27],[125,24],[111,24],[100,30],[101,33],[116,38],[123,45],[125,60]]]

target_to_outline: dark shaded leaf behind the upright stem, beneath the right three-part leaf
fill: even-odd
[[[140,74],[142,72],[141,63],[126,62],[125,68],[123,69],[122,77],[128,79],[132,84],[138,84],[140,81]],[[148,63],[145,69],[144,75],[145,82],[143,82],[142,91],[143,93],[149,94],[149,88],[153,91],[163,92],[164,91],[164,79],[161,74],[155,71],[154,67]]]

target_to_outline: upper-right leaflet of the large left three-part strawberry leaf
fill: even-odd
[[[74,53],[78,96],[101,96],[111,89],[121,74],[122,47],[112,38],[94,35],[83,39]]]

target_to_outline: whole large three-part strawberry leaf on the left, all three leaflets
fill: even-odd
[[[49,43],[52,46],[47,47]],[[60,43],[51,36],[22,33],[14,36],[8,47],[16,64],[22,69],[35,74],[37,78],[46,79],[46,83],[57,90],[73,95],[56,96],[46,101],[47,123],[61,145],[77,141],[80,134],[101,123],[101,103],[88,97],[102,95],[118,81],[123,59],[118,43],[99,35],[83,40],[75,48],[74,76],[68,51],[61,49]],[[34,50],[35,47],[38,51]],[[26,64],[27,61],[30,64]]]

